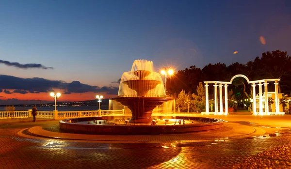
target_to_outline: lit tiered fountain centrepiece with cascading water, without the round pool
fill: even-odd
[[[153,62],[135,60],[131,71],[121,77],[118,96],[111,100],[131,110],[129,122],[150,123],[153,109],[173,98],[166,97],[162,77],[153,71]]]

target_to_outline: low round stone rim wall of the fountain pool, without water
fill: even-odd
[[[159,117],[157,117],[159,118]],[[97,135],[158,135],[158,134],[175,134],[213,130],[222,128],[224,121],[215,118],[206,117],[162,117],[172,119],[185,119],[190,121],[199,121],[203,123],[176,124],[176,125],[132,125],[132,124],[85,124],[76,122],[90,122],[93,120],[106,120],[109,117],[85,117],[61,120],[60,129],[64,132],[73,132],[80,134],[97,134]]]

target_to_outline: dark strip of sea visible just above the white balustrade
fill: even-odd
[[[53,111],[55,109],[54,106],[38,106],[36,107],[38,111]],[[28,109],[32,109],[32,107],[15,107],[15,111],[27,111]],[[94,106],[60,106],[57,107],[58,111],[87,111],[87,110],[98,110],[99,107]],[[101,110],[108,110],[108,106],[101,106]],[[0,111],[5,111],[5,107],[0,107]]]

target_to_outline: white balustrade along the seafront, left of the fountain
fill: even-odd
[[[42,119],[64,119],[74,117],[90,117],[90,116],[123,116],[123,110],[89,110],[89,111],[37,111],[36,118]],[[32,117],[32,110],[29,111],[0,111],[0,120],[8,118],[28,118]]]

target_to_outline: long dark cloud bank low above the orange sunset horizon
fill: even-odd
[[[61,80],[48,80],[39,77],[21,78],[7,75],[0,75],[0,89],[5,89],[6,94],[11,94],[8,90],[14,90],[15,93],[39,93],[53,92],[53,89],[62,89],[65,94],[84,93],[84,92],[107,92],[108,94],[117,94],[118,88],[112,86],[91,86],[83,84],[80,81],[66,83]]]

